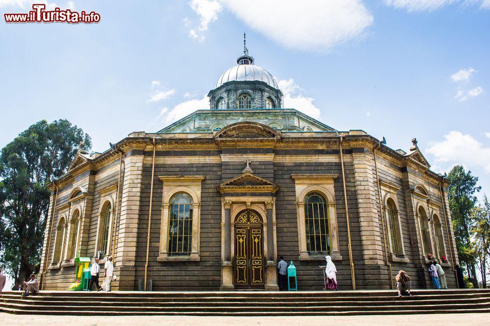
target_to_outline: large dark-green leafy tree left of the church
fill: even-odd
[[[19,286],[37,272],[49,209],[51,176],[63,175],[90,137],[67,120],[41,120],[0,154],[0,266]]]

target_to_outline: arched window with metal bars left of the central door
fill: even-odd
[[[192,250],[192,197],[179,192],[170,201],[169,256],[189,256]]]

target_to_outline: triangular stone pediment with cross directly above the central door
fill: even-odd
[[[220,192],[247,191],[247,192],[275,192],[278,189],[276,184],[258,177],[252,173],[244,173],[233,179],[225,181],[218,186]]]

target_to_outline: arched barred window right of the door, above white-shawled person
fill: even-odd
[[[328,254],[330,236],[327,201],[318,192],[305,197],[306,250],[310,255]]]

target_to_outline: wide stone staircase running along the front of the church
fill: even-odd
[[[46,315],[375,315],[490,312],[490,290],[337,292],[65,292],[21,298],[3,292],[0,311]]]

